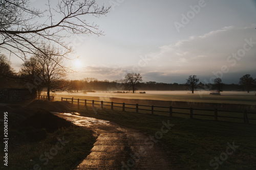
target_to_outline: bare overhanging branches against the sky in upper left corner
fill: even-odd
[[[29,0],[1,0],[0,48],[24,59],[27,54],[45,53],[40,49],[42,43],[55,43],[63,51],[54,55],[63,57],[72,51],[64,38],[71,34],[103,34],[86,16],[99,17],[109,9],[99,7],[95,0],[59,0],[56,7],[48,0],[45,11],[31,8]]]

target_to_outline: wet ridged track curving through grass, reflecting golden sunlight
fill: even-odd
[[[106,120],[55,113],[98,136],[90,155],[76,169],[173,169],[171,158],[146,133]],[[147,140],[146,140],[147,139]],[[146,140],[146,142],[145,142]]]

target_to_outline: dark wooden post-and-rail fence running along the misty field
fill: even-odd
[[[100,108],[103,109],[103,106],[111,107],[111,110],[114,110],[114,107],[121,108],[122,111],[125,111],[125,109],[134,109],[136,113],[139,113],[139,110],[144,110],[151,112],[151,114],[154,114],[155,112],[162,112],[162,113],[168,113],[170,117],[173,116],[173,113],[176,114],[183,114],[183,115],[189,115],[189,117],[192,119],[193,116],[209,116],[214,117],[214,119],[217,121],[218,118],[235,118],[235,119],[244,119],[244,123],[248,124],[249,120],[256,120],[256,112],[248,112],[247,110],[243,111],[231,111],[231,110],[219,110],[219,109],[196,109],[196,108],[181,108],[181,107],[163,107],[163,106],[149,106],[149,105],[139,105],[139,104],[127,104],[127,103],[115,103],[115,102],[103,102],[103,101],[95,101],[95,100],[81,100],[81,99],[74,99],[74,98],[61,98],[61,101],[68,101],[72,104],[77,103],[77,108],[79,109],[81,105],[87,106],[92,105],[92,107],[95,107],[95,105],[100,106]],[[134,107],[132,107],[134,106]],[[145,109],[148,108],[148,109]],[[158,110],[158,109],[164,109],[164,110]],[[175,112],[176,110],[187,110],[188,113],[184,112]],[[212,114],[195,114],[194,111],[207,111],[211,112]],[[241,117],[235,117],[235,116],[226,116],[226,115],[219,115],[220,112],[226,112],[226,113],[240,113]],[[255,118],[248,118],[248,114],[255,115]]]

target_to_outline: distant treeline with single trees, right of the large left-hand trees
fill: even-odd
[[[248,81],[249,80],[249,81]],[[252,80],[250,82],[250,80]],[[247,90],[250,91],[253,87],[256,89],[253,79],[245,75],[240,78],[240,85],[238,84],[224,84],[220,78],[215,79],[214,84],[199,83],[197,76],[189,76],[185,84],[178,83],[157,83],[157,82],[141,82],[142,77],[140,74],[127,74],[124,80],[118,81],[98,81],[94,78],[86,78],[83,80],[75,80],[70,82],[69,90],[72,91],[117,91],[117,90],[188,90],[193,93],[195,89],[202,90]],[[249,88],[247,88],[249,87]]]

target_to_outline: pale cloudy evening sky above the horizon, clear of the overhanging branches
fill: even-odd
[[[256,78],[256,1],[96,0],[112,6],[106,16],[88,16],[104,36],[71,36],[77,60],[67,62],[78,80],[120,80],[130,72],[143,82],[202,83]],[[44,1],[32,0],[35,7]],[[17,70],[22,60],[13,56]]]

